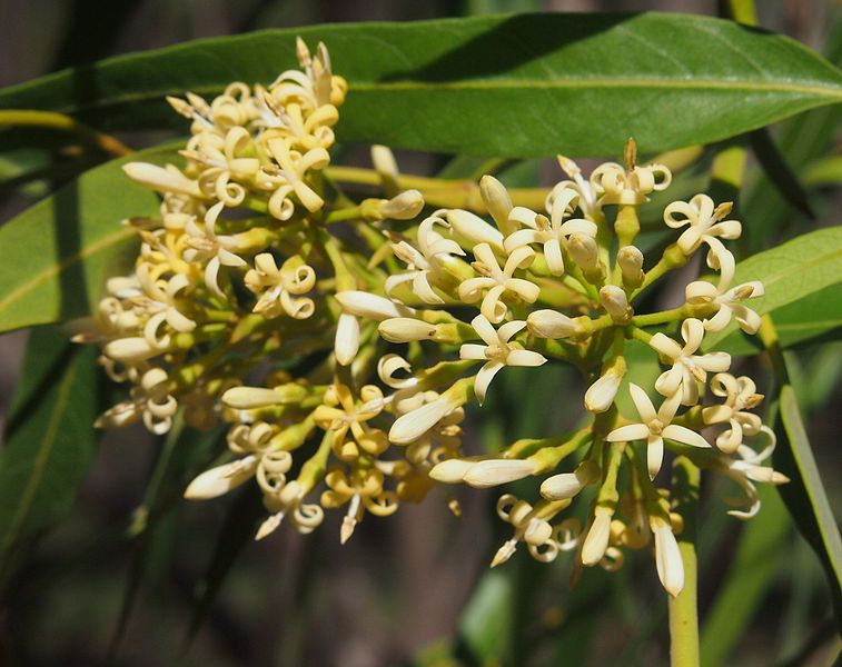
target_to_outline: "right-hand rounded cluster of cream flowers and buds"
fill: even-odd
[[[682,231],[646,268],[634,245],[637,208],[666,189],[672,176],[662,165],[637,165],[633,143],[625,166],[602,165],[588,179],[572,160],[558,161],[568,179],[552,189],[543,210],[515,206],[503,185],[486,176],[481,192],[495,225],[467,210],[443,209],[418,226],[414,243],[393,242],[406,270],[390,277],[386,290],[395,301],[420,301],[425,309],[385,319],[382,337],[450,344],[473,368],[442,392],[435,408],[395,412],[389,439],[412,445],[472,395],[482,404],[507,366],[573,364],[590,382],[583,397],[587,426],[517,441],[495,455],[456,456],[436,465],[430,477],[486,488],[547,476],[535,502],[501,497],[498,514],[514,535],[493,566],[507,560],[518,542],[542,561],[576,551],[581,565],[606,569],[621,566],[624,548],[652,545],[662,584],[677,595],[684,581],[675,538],[682,519],[674,494],[658,481],[665,450],[741,485],[745,507],[731,511],[740,518],[759,509],[754,481],[786,481],[762,465],[774,435],[750,411],[763,398],[754,382],[729,374],[727,354],[704,348],[705,335],[721,331],[732,318],[756,332],[760,318],[744,301],[762,296],[763,286],[732,287],[735,262],[723,241],[739,238],[741,225],[729,219],[730,203],[716,206],[706,195],[666,207],[664,223]],[[716,280],[690,282],[677,308],[637,312],[646,289],[699,250]],[[478,310],[473,318],[453,315],[470,306]],[[647,330],[652,327],[657,330]],[[624,355],[630,341],[645,345],[664,368],[651,390],[627,379],[634,371]],[[453,388],[458,390],[448,395]],[[620,414],[620,391],[631,395],[634,415]],[[713,442],[705,437],[709,428]],[[755,436],[770,440],[760,454],[750,445]],[[561,516],[580,494],[590,498],[584,526]]]

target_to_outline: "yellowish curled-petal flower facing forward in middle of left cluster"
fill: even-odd
[[[261,252],[255,257],[255,268],[246,273],[245,282],[249,290],[260,295],[252,311],[266,317],[286,312],[295,319],[307,319],[316,308],[313,299],[300,297],[316,286],[316,272],[298,257],[288,259],[278,269],[271,253]]]

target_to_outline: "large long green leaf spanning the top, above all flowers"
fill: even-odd
[[[801,44],[674,13],[519,14],[346,23],[200,40],[0,92],[0,108],[72,113],[97,129],[182,127],[167,94],[270,82],[295,36],[349,83],[337,136],[497,157],[707,143],[842,101],[842,74]]]

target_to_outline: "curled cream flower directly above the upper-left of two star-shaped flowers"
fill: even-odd
[[[469,278],[459,285],[459,298],[466,303],[473,303],[482,298],[479,311],[489,321],[498,323],[506,317],[508,307],[502,300],[506,292],[516,295],[527,303],[534,303],[537,300],[541,293],[541,288],[537,285],[513,277],[517,269],[528,267],[535,259],[535,252],[532,249],[516,248],[506,259],[502,269],[488,243],[476,245],[474,257],[476,257],[476,261],[472,266],[482,277]],[[488,291],[483,297],[485,290]]]

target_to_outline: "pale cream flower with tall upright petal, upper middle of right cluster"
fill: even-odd
[[[553,199],[549,220],[545,216],[533,213],[524,216],[522,221],[531,229],[515,231],[504,241],[506,252],[514,252],[531,243],[543,243],[544,257],[549,272],[554,276],[564,273],[562,241],[572,233],[582,233],[591,238],[596,236],[596,225],[583,218],[564,220],[576,207],[580,196],[574,190],[562,190]],[[529,211],[531,213],[532,211]]]

